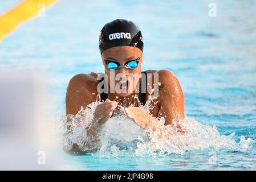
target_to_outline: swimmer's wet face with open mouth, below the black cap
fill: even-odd
[[[141,76],[141,63],[143,61],[142,52],[139,48],[131,46],[117,46],[105,50],[101,54],[103,64],[105,67],[105,74],[108,76],[109,88],[115,86],[115,93],[121,97],[127,97],[131,93],[139,93],[139,77]],[[136,60],[139,57],[139,63],[137,68],[118,68],[115,70],[109,70],[106,60],[117,62],[120,66],[124,66],[125,63],[131,60]],[[113,77],[114,76],[114,77]],[[115,85],[111,85],[111,82],[115,82]]]

